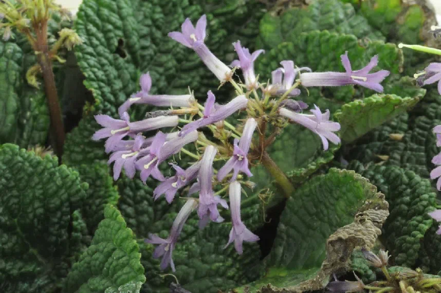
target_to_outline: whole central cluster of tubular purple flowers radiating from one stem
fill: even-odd
[[[231,101],[217,104],[212,91],[208,91],[204,105],[199,104],[191,92],[186,95],[151,95],[152,79],[146,73],[140,78],[141,90],[119,107],[120,119],[95,116],[103,129],[97,131],[93,139],[107,139],[105,151],[112,153],[108,163],[114,164],[115,180],[122,169],[130,178],[134,178],[138,170],[143,182],[149,177],[159,181],[153,192],[155,200],[164,195],[170,204],[177,194],[187,194],[182,197],[186,203],[177,215],[169,237],[162,239],[149,235],[146,239],[146,242],[158,245],[154,257],[162,257],[161,269],[170,265],[175,270],[173,249],[193,211],[196,211],[199,227],[203,229],[210,222],[223,222],[222,211],[230,209],[232,228],[225,247],[234,242],[235,250],[240,254],[243,242],[259,240],[242,222],[241,196],[245,186],[252,186],[247,181],[247,177],[252,176],[250,167],[260,163],[263,157],[268,160],[265,149],[273,141],[271,135],[280,133],[278,129],[289,123],[302,125],[320,137],[324,150],[328,149],[329,141],[340,143],[336,134],[340,124],[330,121],[328,110],[322,112],[314,105],[310,114],[302,113],[308,105],[292,99],[301,94],[300,85],[354,84],[382,91],[380,82],[389,74],[386,70],[369,73],[377,65],[377,57],[364,68],[353,71],[346,52],[341,56],[346,72],[311,72],[308,67],[298,68],[293,61],[284,60],[280,62],[282,67],[272,72],[271,83],[260,83],[259,75],[254,72],[254,61],[264,51],[250,53],[237,41],[233,48],[238,59],[227,66],[204,43],[206,26],[205,15],[200,17],[196,26],[187,19],[181,32],[170,32],[169,36],[194,50],[221,85],[230,83],[235,88],[236,95]],[[242,71],[243,81],[234,81],[235,70]],[[128,113],[134,104],[166,109],[150,112],[146,119],[132,122]],[[226,120],[232,115],[242,117],[232,120],[236,122],[231,124]],[[143,136],[151,131],[156,134]],[[206,132],[211,135],[206,136]],[[177,154],[179,157],[187,155],[193,162],[178,166],[171,159]],[[167,176],[171,172],[174,175]]]

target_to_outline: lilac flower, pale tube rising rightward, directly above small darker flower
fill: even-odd
[[[145,182],[150,175],[159,181],[166,180],[159,171],[159,164],[179,153],[186,144],[196,141],[197,137],[197,131],[193,131],[166,142],[166,134],[159,131],[153,139],[149,153],[136,161],[136,169],[141,171],[141,180]]]

